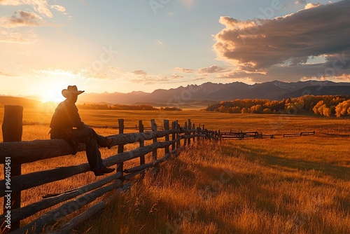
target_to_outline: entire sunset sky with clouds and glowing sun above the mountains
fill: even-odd
[[[350,81],[350,1],[0,0],[0,95]]]

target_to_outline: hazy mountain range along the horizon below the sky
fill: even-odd
[[[202,85],[180,86],[169,90],[158,89],[151,93],[85,93],[81,102],[106,102],[111,104],[151,104],[152,106],[198,105],[232,99],[276,99],[300,97],[302,95],[349,95],[350,83],[332,81],[297,81],[286,83],[269,81],[247,85],[234,83],[203,83]],[[205,105],[205,104],[204,104]]]

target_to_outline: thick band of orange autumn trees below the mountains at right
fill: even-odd
[[[313,113],[320,116],[350,116],[349,95],[304,95],[280,101],[269,99],[235,99],[212,104],[206,111],[223,113]]]

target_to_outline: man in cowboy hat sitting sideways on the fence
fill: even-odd
[[[104,166],[99,152],[99,146],[109,147],[112,139],[98,135],[80,120],[76,100],[83,92],[78,90],[76,85],[69,85],[67,89],[62,90],[62,95],[66,99],[59,103],[52,116],[50,137],[66,140],[73,147],[73,154],[78,149],[78,142],[84,143],[90,170],[98,177],[115,170]]]

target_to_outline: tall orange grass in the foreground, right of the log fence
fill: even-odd
[[[289,156],[283,163],[294,164]],[[134,181],[77,232],[349,233],[349,174],[283,163],[232,142],[202,142]]]

